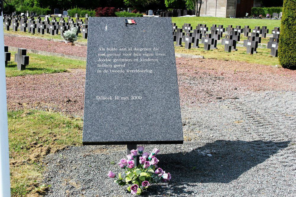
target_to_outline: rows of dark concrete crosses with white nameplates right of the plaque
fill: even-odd
[[[210,28],[211,33],[208,32],[208,27],[205,24],[198,24],[195,29],[192,30],[191,24],[184,23],[182,28],[178,28],[176,23],[172,23],[173,27],[173,38],[176,41],[176,46],[182,46],[182,43],[185,43],[185,48],[199,48],[199,40],[204,44],[204,50],[208,51],[211,49],[217,48],[217,40],[220,40],[223,36],[223,32],[226,32],[225,38],[221,40],[221,44],[224,45],[224,51],[231,52],[237,51],[236,44],[240,41],[241,33],[244,33],[244,36],[247,37],[247,40],[244,40],[243,46],[247,48],[247,53],[257,53],[258,43],[261,43],[261,38],[266,38],[268,29],[266,26],[255,26],[251,30],[248,25],[245,25],[244,28],[241,26],[236,26],[235,28],[232,25],[224,28],[223,25],[212,25]],[[261,37],[259,37],[261,35]],[[279,27],[275,27],[272,30],[273,37],[269,38],[267,48],[271,49],[271,56],[277,56],[277,48],[279,42]]]

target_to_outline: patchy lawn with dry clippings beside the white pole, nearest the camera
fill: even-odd
[[[50,187],[41,185],[42,159],[65,146],[81,145],[83,120],[40,110],[8,112],[11,193],[38,196]]]

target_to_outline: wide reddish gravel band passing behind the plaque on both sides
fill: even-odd
[[[247,92],[296,91],[296,71],[214,59],[176,58],[181,105],[200,106]],[[83,115],[85,70],[6,78],[8,109]]]

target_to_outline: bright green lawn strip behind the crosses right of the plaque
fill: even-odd
[[[197,24],[206,24],[207,27],[215,25],[223,25],[226,28],[228,25],[232,25],[235,27],[236,25],[242,26],[244,28],[245,25],[249,25],[249,28],[254,28],[255,26],[267,26],[269,29],[269,33],[271,34],[271,30],[274,27],[281,26],[281,20],[273,20],[273,19],[237,19],[237,18],[221,18],[221,17],[172,17],[172,22],[176,23],[178,28],[181,28],[184,23],[190,23],[195,29]]]

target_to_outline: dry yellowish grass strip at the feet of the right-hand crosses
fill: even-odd
[[[182,43],[184,45],[184,43]],[[279,59],[277,57],[270,56],[270,49],[257,48],[256,54],[247,54],[245,47],[237,47],[237,51],[231,51],[231,53],[224,52],[224,45],[217,44],[218,49],[204,51],[203,44],[199,44],[200,48],[185,49],[184,47],[176,47],[175,53],[185,53],[192,55],[202,55],[208,59],[221,59],[221,60],[234,60],[245,61],[249,63],[263,64],[263,65],[278,65]]]

